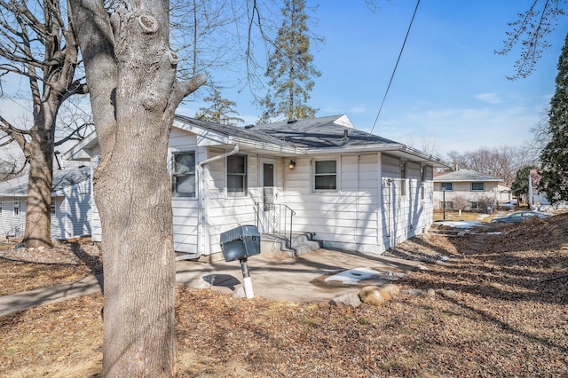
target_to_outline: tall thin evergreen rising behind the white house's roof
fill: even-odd
[[[305,1],[286,0],[281,11],[282,24],[266,68],[270,90],[260,101],[264,107],[261,119],[279,115],[288,119],[311,118],[317,109],[308,106],[307,101],[313,89],[313,78],[321,73],[313,66],[310,53]]]

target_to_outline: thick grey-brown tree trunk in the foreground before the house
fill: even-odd
[[[71,1],[101,147],[94,195],[105,274],[103,375],[174,376],[168,139],[177,105],[204,80],[176,81],[169,2],[130,3],[109,20],[102,2]]]

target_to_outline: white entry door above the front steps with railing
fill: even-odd
[[[278,188],[276,184],[277,161],[275,159],[260,159],[260,184],[263,190],[262,209],[260,210],[261,232],[278,232]]]

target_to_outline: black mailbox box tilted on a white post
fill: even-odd
[[[260,253],[260,233],[256,225],[241,225],[221,232],[220,243],[226,262],[246,259]]]

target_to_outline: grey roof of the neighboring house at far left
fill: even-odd
[[[53,170],[51,195],[59,195],[68,186],[88,180],[90,174],[91,169],[89,167]],[[28,195],[28,179],[27,174],[0,183],[0,195],[4,197],[26,197]]]

